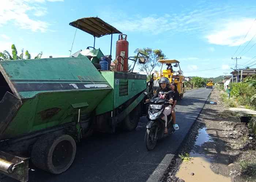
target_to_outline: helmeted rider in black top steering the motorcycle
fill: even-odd
[[[173,103],[173,96],[170,95],[170,94],[167,94],[168,91],[171,91],[171,88],[169,88],[169,84],[170,84],[169,79],[166,78],[166,77],[162,77],[162,78],[159,79],[158,83],[159,83],[160,88],[157,89],[157,92],[152,97],[152,99],[157,98],[157,97],[164,98],[164,99],[168,100],[170,104],[172,104]],[[149,99],[146,99],[146,102],[148,102],[148,101],[149,101]],[[172,111],[172,106],[171,105],[165,107],[165,110],[163,111],[163,114],[165,115],[165,133],[168,132],[167,131],[167,115],[171,114],[171,111]],[[174,112],[174,116],[175,116],[175,112]],[[176,130],[176,128],[175,128],[175,130]]]

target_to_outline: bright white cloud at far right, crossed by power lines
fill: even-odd
[[[251,40],[255,35],[256,22],[254,22],[254,19],[234,19],[228,21],[229,23],[224,24],[222,29],[216,29],[215,33],[207,36],[207,39],[210,43],[218,45],[239,46],[240,44]],[[246,35],[247,32],[248,34]],[[253,41],[255,42],[256,39]]]

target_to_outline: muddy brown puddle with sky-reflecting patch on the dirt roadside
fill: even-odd
[[[207,134],[206,128],[198,130],[199,135],[196,138],[195,147],[202,145],[204,142],[211,142],[211,137]],[[211,170],[210,159],[194,150],[189,153],[192,163],[182,162],[176,177],[183,179],[185,182],[231,182],[230,177],[221,174],[215,174]]]

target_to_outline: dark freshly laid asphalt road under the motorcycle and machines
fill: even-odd
[[[180,130],[158,141],[154,150],[144,144],[146,117],[135,131],[95,134],[77,144],[75,160],[62,174],[54,175],[30,166],[29,182],[150,182],[157,181],[182,144],[204,106],[211,88],[187,91],[176,105]],[[0,175],[1,182],[16,180]]]

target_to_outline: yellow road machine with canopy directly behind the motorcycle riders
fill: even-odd
[[[178,62],[175,59],[161,59],[161,60],[158,60],[158,62],[162,63],[162,67],[161,67],[160,71],[155,71],[154,74],[153,74],[154,94],[157,91],[157,88],[159,88],[159,83],[158,83],[159,79],[161,77],[166,77],[170,80],[170,82],[174,82],[174,83],[177,84],[177,90],[180,93],[180,99],[182,99],[183,94],[186,92],[186,90],[185,90],[185,87],[184,87],[184,83],[182,82],[182,80],[184,79],[184,76],[182,75],[183,72],[180,69],[180,64],[179,64],[180,62]],[[166,70],[162,70],[163,64],[167,65]],[[179,70],[173,71],[172,68],[171,68],[171,64],[173,64],[173,67],[178,67]]]

